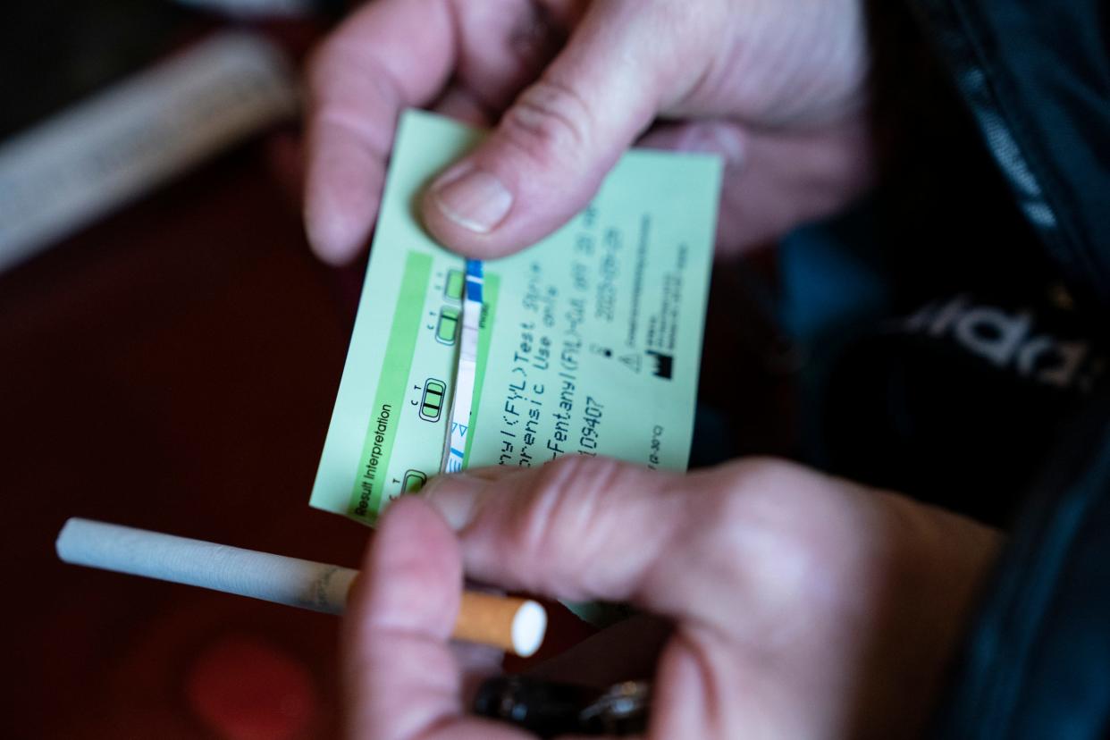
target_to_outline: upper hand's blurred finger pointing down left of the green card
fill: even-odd
[[[366,240],[404,108],[431,102],[457,49],[448,0],[366,3],[324,42],[309,69],[304,220],[324,260]]]

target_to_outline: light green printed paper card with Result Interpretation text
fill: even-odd
[[[440,472],[465,261],[423,230],[417,203],[481,136],[402,116],[316,508],[373,525]],[[632,151],[569,223],[484,263],[466,467],[606,455],[686,468],[719,186],[714,158]]]

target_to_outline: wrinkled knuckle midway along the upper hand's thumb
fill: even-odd
[[[502,130],[511,145],[541,164],[586,151],[593,116],[582,95],[551,78],[527,88],[505,113]]]

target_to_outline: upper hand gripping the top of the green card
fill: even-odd
[[[369,2],[310,69],[310,242],[333,263],[360,251],[397,115],[432,107],[497,123],[424,200],[453,249],[538,241],[647,132],[644,145],[724,158],[718,246],[736,251],[868,184],[868,63],[861,0]]]

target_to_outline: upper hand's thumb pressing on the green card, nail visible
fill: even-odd
[[[470,256],[497,257],[585,207],[667,93],[686,78],[693,84],[697,70],[675,63],[677,50],[660,48],[664,39],[688,45],[666,18],[670,12],[643,0],[591,6],[488,139],[431,184],[423,203],[428,231]]]

